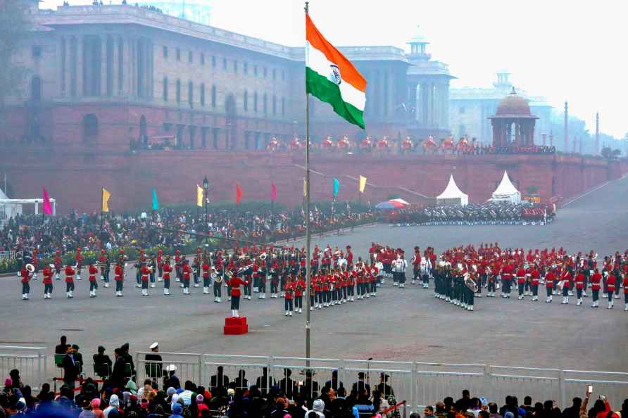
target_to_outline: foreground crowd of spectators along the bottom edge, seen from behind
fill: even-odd
[[[70,348],[66,356],[75,362]],[[115,365],[127,361],[124,346],[115,350],[115,357]],[[249,384],[244,376],[229,381],[221,371],[218,367],[208,386],[193,381],[182,383],[176,368],[168,368],[163,379],[146,379],[142,386],[132,377],[120,376],[118,380],[112,376],[98,381],[90,377],[81,380],[78,388],[74,381],[68,381],[58,393],[43,384],[36,395],[30,386],[22,384],[20,372],[13,369],[0,393],[0,417],[397,418],[403,413],[403,403],[396,403],[394,396],[382,395],[384,383],[371,389],[363,375],[351,386],[329,380],[320,391],[318,387],[313,391],[310,382],[308,391],[307,381],[298,386],[289,375],[267,388],[264,379],[260,384],[263,376],[256,384]],[[472,397],[465,390],[458,400],[448,396],[426,405],[421,412],[425,418],[627,418],[628,399],[614,411],[604,396],[593,400],[591,393],[586,393],[584,400],[574,398],[570,407],[560,410],[555,400],[533,403],[530,396],[525,396],[521,404],[516,396],[506,396],[500,406],[481,394]],[[410,418],[420,417],[420,412],[410,414]]]

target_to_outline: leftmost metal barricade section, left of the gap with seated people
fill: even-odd
[[[46,381],[46,347],[0,346],[0,376],[20,372],[25,385],[40,388]],[[4,379],[2,382],[4,384]]]

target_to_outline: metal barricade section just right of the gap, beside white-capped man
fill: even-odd
[[[161,355],[161,362],[146,360],[146,355]],[[167,376],[168,366],[177,367],[177,376],[183,386],[189,380],[198,384],[203,381],[203,355],[195,353],[152,353],[150,351],[138,351],[135,353],[135,369],[137,371],[137,382],[141,384],[144,379],[161,379]]]

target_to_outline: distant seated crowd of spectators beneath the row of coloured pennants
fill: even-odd
[[[313,232],[351,227],[374,219],[370,212],[355,213],[351,208],[343,210],[333,215],[329,211],[313,210],[310,216]],[[45,218],[41,215],[18,215],[0,227],[0,251],[15,251],[28,257],[36,248],[39,258],[44,258],[53,255],[56,250],[64,254],[76,248],[111,250],[156,245],[175,248],[194,238],[191,234],[195,233],[256,243],[294,239],[305,233],[304,215],[302,210],[239,213],[216,210],[205,217],[204,213],[194,210],[167,209],[154,215],[106,215],[104,220],[96,214],[70,213],[68,216]]]

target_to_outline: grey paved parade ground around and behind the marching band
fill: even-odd
[[[460,243],[498,241],[502,246],[565,246],[568,251],[595,248],[601,255],[628,245],[628,179],[613,182],[560,211],[547,227],[365,227],[341,236],[317,238],[319,245],[346,246],[365,254],[371,241],[410,251],[414,245],[441,251]],[[93,353],[130,341],[145,350],[153,341],[161,349],[187,353],[294,355],[304,353],[304,314],[285,318],[282,300],[242,303],[249,334],[223,336],[227,303],[215,304],[201,289],[182,296],[175,289],[165,298],[161,288],[142,298],[127,287],[124,298],[113,289],[88,297],[87,281],[77,282],[73,300],[63,298],[56,282],[53,300],[42,300],[41,281],[32,300],[20,300],[18,279],[2,279],[1,343],[55,343],[61,334]],[[160,284],[158,284],[160,286]],[[548,305],[542,301],[477,301],[472,314],[436,300],[432,291],[416,287],[401,291],[389,284],[377,298],[348,303],[313,314],[312,355],[364,359],[479,362],[628,372],[628,313],[623,303],[614,310]]]

